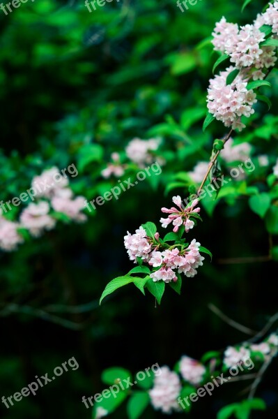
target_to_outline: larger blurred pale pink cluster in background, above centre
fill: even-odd
[[[160,145],[160,140],[157,138],[150,138],[150,140],[141,140],[140,138],[134,138],[128,143],[125,148],[126,155],[128,158],[136,163],[139,167],[144,168],[145,164],[153,163],[157,161],[157,157],[154,152]],[[163,164],[162,161],[160,163]]]

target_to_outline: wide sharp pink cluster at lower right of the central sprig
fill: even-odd
[[[165,251],[153,251],[151,253],[149,265],[160,267],[159,270],[150,274],[153,281],[171,282],[177,281],[174,269],[178,269],[178,273],[185,274],[186,277],[194,277],[197,273],[196,268],[203,265],[203,256],[199,252],[200,243],[192,240],[187,249],[180,251],[178,248],[167,249]]]

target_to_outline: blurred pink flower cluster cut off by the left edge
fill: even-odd
[[[0,212],[0,249],[12,251],[17,249],[18,244],[23,243],[23,238],[17,233],[18,223],[8,221]]]

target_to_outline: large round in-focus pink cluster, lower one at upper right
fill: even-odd
[[[208,111],[222,121],[224,126],[231,126],[239,131],[245,128],[240,117],[250,117],[254,113],[252,105],[257,102],[254,91],[247,90],[247,78],[239,73],[231,84],[226,84],[226,78],[233,71],[231,66],[215,78],[210,79],[208,87]]]

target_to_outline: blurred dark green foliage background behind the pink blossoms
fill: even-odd
[[[183,353],[200,358],[245,339],[215,317],[208,303],[255,330],[277,309],[274,261],[226,260],[268,255],[265,223],[248,204],[250,185],[267,191],[258,172],[224,193],[217,207],[203,203],[196,235],[214,259],[206,260],[196,278],[183,280],[181,297],[170,290],[155,308],[152,297],[130,286],[98,307],[107,282],[132,267],[123,247],[126,230],[158,223],[171,189],[186,196],[185,173],[208,161],[213,139],[225,133],[219,123],[206,133],[201,129],[217,59],[203,40],[222,15],[246,24],[265,2],[252,1],[242,14],[241,6],[240,0],[203,0],[181,13],[174,0],[122,0],[89,13],[82,1],[36,0],[8,16],[1,12],[1,200],[26,191],[45,168],[70,163],[79,170],[72,189],[91,200],[117,184],[113,177],[103,179],[100,170],[111,152],[123,152],[134,137],[162,138],[160,156],[167,161],[162,175],[88,213],[87,223],[60,223],[18,251],[0,254],[1,396],[13,395],[72,356],[79,362],[77,371],[63,374],[36,397],[9,410],[1,404],[1,418],[90,418],[82,396],[102,390],[103,369],[122,365],[137,372],[155,362],[172,367]],[[270,80],[270,114],[258,105],[237,140],[252,142],[255,154],[268,154],[273,166],[276,70]],[[126,175],[137,171],[130,165]],[[263,179],[270,174],[271,168],[260,172]],[[8,217],[15,219],[19,210]],[[268,230],[278,233],[277,207],[272,212]],[[275,236],[272,240],[275,244]],[[78,309],[68,308],[73,306]],[[201,399],[188,417],[215,418],[222,406],[240,399],[240,390],[239,384],[232,390],[223,386]],[[268,404],[268,418],[276,418],[275,374],[268,373],[258,393]],[[125,407],[111,417],[124,418]],[[152,409],[144,413],[144,418],[160,417]]]

